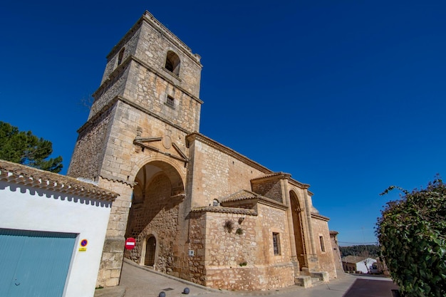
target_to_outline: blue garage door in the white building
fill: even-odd
[[[0,229],[0,296],[62,296],[76,236]]]

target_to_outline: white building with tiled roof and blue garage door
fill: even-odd
[[[117,196],[0,160],[0,296],[93,296]]]

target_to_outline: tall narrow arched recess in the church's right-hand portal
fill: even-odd
[[[302,222],[303,209],[301,208],[301,204],[299,204],[299,198],[296,193],[293,191],[289,192],[289,197],[291,200],[291,215],[293,217],[297,260],[299,261],[299,267],[302,270],[302,268],[308,267],[308,263],[306,262],[304,224]]]

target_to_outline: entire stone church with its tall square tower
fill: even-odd
[[[268,290],[336,278],[309,185],[199,133],[200,56],[145,12],[107,56],[68,175],[117,192],[98,286],[123,258],[204,286]],[[126,238],[135,249],[124,250]]]

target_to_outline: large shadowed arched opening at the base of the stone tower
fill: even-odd
[[[169,273],[175,263],[180,204],[185,187],[175,167],[162,161],[142,166],[135,177],[125,237],[136,239],[125,257]],[[153,234],[157,234],[156,239]]]

